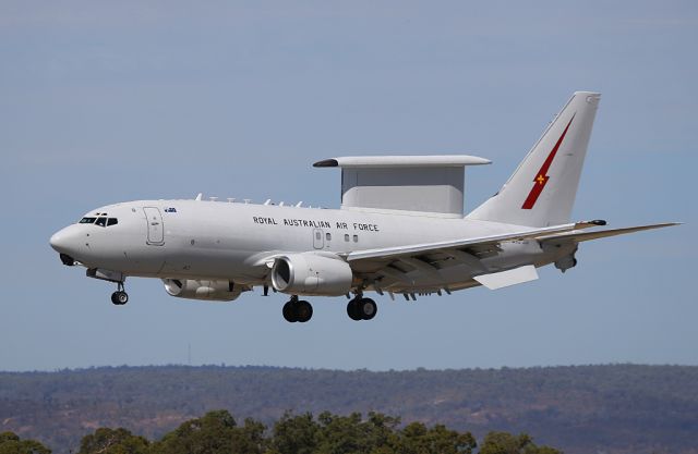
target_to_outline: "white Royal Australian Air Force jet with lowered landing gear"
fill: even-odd
[[[289,295],[281,311],[289,322],[311,319],[306,296],[346,295],[347,315],[359,321],[377,314],[368,292],[416,300],[533,281],[546,265],[574,268],[583,242],[678,224],[570,222],[600,98],[576,91],[504,186],[465,216],[465,168],[488,159],[352,156],[313,164],[341,170],[340,209],[201,194],[125,201],[91,210],[50,245],[64,265],[116,283],[115,305],[129,300],[131,277],[161,279],[169,295],[203,300],[262,287],[264,296]]]

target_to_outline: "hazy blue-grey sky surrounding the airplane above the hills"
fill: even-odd
[[[275,365],[409,369],[698,365],[695,2],[0,3],[0,369]],[[97,206],[206,196],[337,207],[352,154],[472,154],[467,209],[575,90],[603,94],[575,219],[684,221],[587,243],[579,266],[356,323],[313,298],[169,297],[63,267],[55,231]]]

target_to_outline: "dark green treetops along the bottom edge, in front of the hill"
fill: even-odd
[[[366,418],[358,413],[339,416],[324,412],[286,413],[272,428],[245,418],[238,424],[228,410],[209,412],[182,422],[157,441],[131,431],[99,428],[83,437],[79,454],[561,454],[538,446],[526,433],[490,432],[478,446],[470,432],[443,425],[428,428],[380,413]],[[13,432],[0,433],[0,454],[50,454],[36,440],[22,440]]]

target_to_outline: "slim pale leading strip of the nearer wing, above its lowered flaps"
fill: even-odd
[[[423,243],[406,246],[382,247],[376,249],[356,250],[346,255],[347,261],[350,263],[357,260],[365,259],[396,259],[409,256],[419,256],[430,253],[445,251],[450,249],[460,249],[473,246],[488,246],[507,241],[537,238],[542,235],[553,235],[570,231],[578,231],[588,226],[599,225],[592,222],[578,222],[569,224],[561,224],[541,229],[521,230],[497,235],[480,236],[467,240],[456,240],[436,243]]]

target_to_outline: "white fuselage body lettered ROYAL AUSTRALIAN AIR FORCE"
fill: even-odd
[[[51,238],[51,244],[60,244],[61,253],[89,269],[111,270],[124,277],[230,280],[246,285],[268,283],[268,268],[261,265],[277,253],[341,254],[527,229],[437,213],[202,200],[130,201],[98,208],[85,217],[103,214],[116,218],[118,223],[69,225]],[[508,243],[482,261],[492,272],[546,265],[564,254],[568,251],[551,254],[535,241],[522,241]],[[477,271],[464,263],[437,272],[412,270],[409,285],[402,280],[394,287],[398,292],[457,290],[477,285],[471,279]]]

